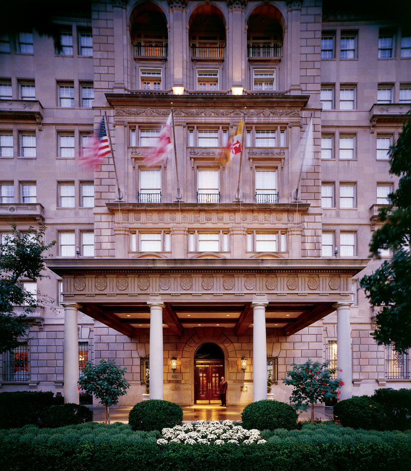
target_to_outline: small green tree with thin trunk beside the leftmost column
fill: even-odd
[[[114,360],[100,360],[98,365],[87,362],[79,385],[86,392],[94,394],[105,406],[105,424],[110,423],[108,408],[119,402],[130,387],[124,378],[127,368],[121,368]]]

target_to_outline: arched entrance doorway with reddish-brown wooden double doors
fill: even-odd
[[[194,401],[213,404],[220,401],[218,383],[224,376],[224,354],[218,345],[205,343],[194,355]]]

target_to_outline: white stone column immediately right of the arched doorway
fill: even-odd
[[[254,311],[253,327],[253,384],[254,402],[267,399],[267,340],[265,331],[265,306],[268,302],[251,303]]]

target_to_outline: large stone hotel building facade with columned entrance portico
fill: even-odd
[[[265,398],[267,375],[287,401],[308,359],[338,363],[342,397],[409,387],[358,290],[411,102],[401,24],[320,0],[99,0],[55,21],[61,50],[35,31],[0,44],[0,231],[57,241],[2,390],[76,402],[83,362],[109,358],[127,405],[148,372],[151,397],[184,405],[216,401],[221,375],[228,403]],[[148,167],[171,107],[173,149]],[[93,171],[102,118],[113,155]]]

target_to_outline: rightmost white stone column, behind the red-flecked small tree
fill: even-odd
[[[340,387],[340,399],[353,395],[353,366],[351,363],[351,329],[349,323],[349,306],[351,303],[335,303],[337,310],[337,365],[338,377],[344,382]]]

